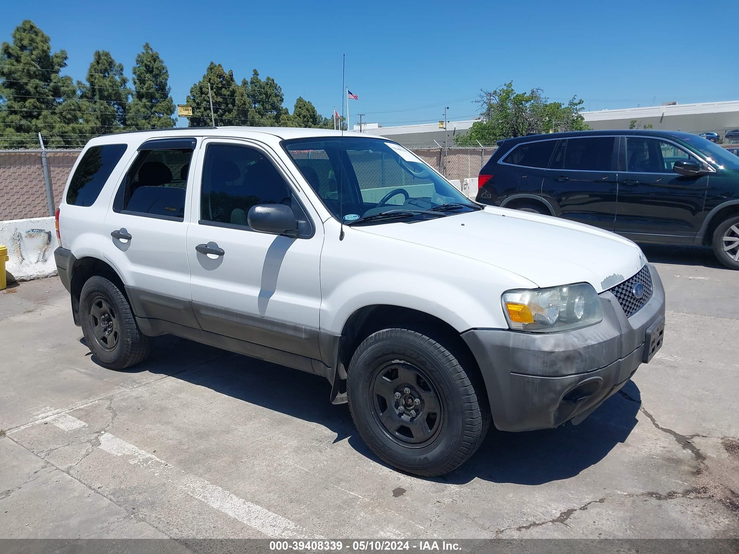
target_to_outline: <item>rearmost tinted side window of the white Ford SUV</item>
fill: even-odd
[[[69,182],[67,204],[92,206],[125,151],[125,144],[88,148]]]

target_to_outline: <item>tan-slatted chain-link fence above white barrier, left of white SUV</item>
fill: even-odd
[[[69,171],[81,150],[47,150],[53,205],[57,206]],[[38,150],[0,150],[0,221],[49,216],[44,163]]]

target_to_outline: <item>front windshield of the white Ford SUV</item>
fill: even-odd
[[[408,221],[369,217],[401,210],[413,212],[406,217],[418,221],[480,209],[411,151],[387,140],[316,137],[286,140],[283,146],[326,208],[344,223]]]

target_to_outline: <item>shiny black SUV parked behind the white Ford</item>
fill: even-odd
[[[678,131],[572,131],[501,140],[477,202],[703,244],[739,270],[739,157]]]

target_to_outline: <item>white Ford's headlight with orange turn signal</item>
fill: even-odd
[[[580,329],[603,320],[596,290],[588,283],[503,293],[503,313],[511,329],[556,332]]]

